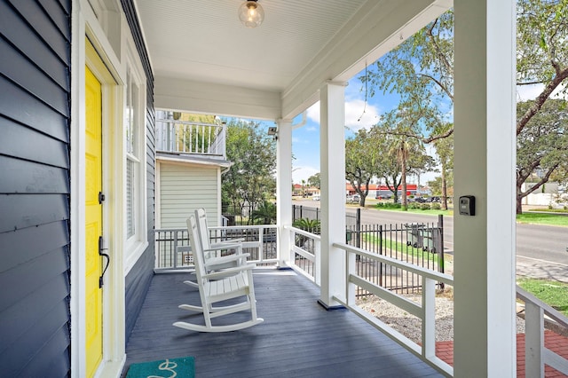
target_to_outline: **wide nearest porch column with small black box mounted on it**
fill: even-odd
[[[515,377],[515,1],[454,12],[454,376]]]

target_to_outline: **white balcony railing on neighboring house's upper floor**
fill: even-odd
[[[225,159],[225,124],[156,120],[156,151]]]

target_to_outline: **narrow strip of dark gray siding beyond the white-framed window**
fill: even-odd
[[[140,257],[137,264],[126,276],[126,342],[134,328],[146,292],[154,274],[154,182],[155,182],[155,114],[154,114],[154,75],[144,45],[144,38],[138,24],[138,16],[132,0],[122,0],[122,9],[128,20],[134,43],[138,49],[142,67],[146,73],[146,185],[147,185],[147,219],[148,219],[148,248]]]

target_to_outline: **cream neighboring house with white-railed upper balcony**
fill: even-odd
[[[226,126],[215,117],[156,112],[156,228],[185,228],[194,209],[222,224],[221,175]]]

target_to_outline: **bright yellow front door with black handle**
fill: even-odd
[[[99,80],[85,67],[85,353],[86,373],[97,371],[103,355],[102,288],[99,287],[102,237],[102,91]]]

